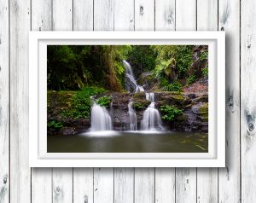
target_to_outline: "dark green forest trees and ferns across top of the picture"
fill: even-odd
[[[180,90],[207,77],[207,57],[207,46],[48,45],[47,87],[81,90],[96,86],[124,91],[126,60],[136,78],[148,73],[162,90]]]

